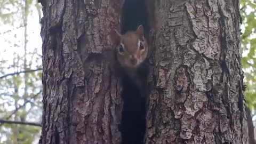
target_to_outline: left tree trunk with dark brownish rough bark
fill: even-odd
[[[42,143],[119,143],[122,101],[105,52],[120,2],[41,3]]]

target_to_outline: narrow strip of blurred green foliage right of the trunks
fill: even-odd
[[[240,0],[245,98],[250,109],[256,109],[256,1]]]

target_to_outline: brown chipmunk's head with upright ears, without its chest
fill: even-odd
[[[136,31],[127,31],[124,35],[113,33],[118,62],[125,68],[137,68],[145,61],[148,54],[148,43],[143,34],[143,26]]]

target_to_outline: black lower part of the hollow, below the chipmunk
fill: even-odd
[[[140,97],[138,87],[127,76],[123,77],[122,85],[122,144],[142,144],[146,131],[146,99]]]

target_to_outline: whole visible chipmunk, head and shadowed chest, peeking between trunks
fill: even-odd
[[[118,43],[116,57],[122,69],[121,73],[129,76],[132,82],[138,86],[141,92],[140,96],[145,97],[143,91],[145,91],[147,73],[146,69],[143,69],[145,66],[142,65],[146,65],[149,45],[144,37],[143,26],[139,25],[136,31],[127,31],[124,35],[119,34],[117,30],[115,30],[115,33]]]

